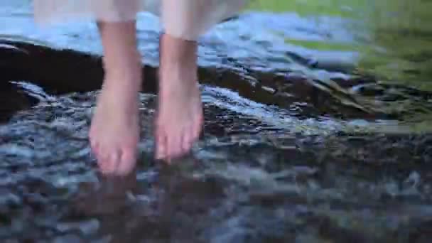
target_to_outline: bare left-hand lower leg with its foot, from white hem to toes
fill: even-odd
[[[90,128],[92,150],[103,173],[126,175],[139,142],[141,58],[136,23],[98,23],[104,46],[104,85]]]

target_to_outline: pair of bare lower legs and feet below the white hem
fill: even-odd
[[[104,174],[127,175],[139,143],[141,58],[135,23],[99,23],[104,85],[90,127],[90,144]],[[163,35],[156,116],[156,153],[170,160],[190,151],[202,129],[195,42]]]

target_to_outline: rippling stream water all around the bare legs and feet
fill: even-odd
[[[202,36],[202,139],[174,166],[154,161],[155,95],[143,93],[128,178],[97,173],[87,141],[97,91],[65,81],[81,82],[84,69],[56,78],[61,94],[25,70],[6,78],[35,105],[0,126],[1,242],[428,242],[427,18],[416,10],[415,28],[384,28],[370,25],[367,1],[320,2],[258,2]],[[0,3],[0,51],[13,53],[2,72],[30,55],[23,42],[102,53],[94,23],[43,30],[31,17],[28,1]],[[139,50],[153,67],[158,25],[139,14]],[[65,61],[52,56],[39,55],[43,72]]]

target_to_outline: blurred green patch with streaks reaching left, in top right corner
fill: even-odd
[[[314,50],[355,50],[362,54],[358,65],[363,72],[377,75],[382,82],[432,91],[431,8],[431,0],[252,0],[248,10],[357,19],[362,29],[356,26],[352,31],[372,36],[365,43],[286,41]]]

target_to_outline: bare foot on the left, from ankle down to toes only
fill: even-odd
[[[90,127],[90,142],[99,169],[104,174],[126,175],[136,165],[139,142],[137,94],[130,87],[107,85],[98,97]]]

